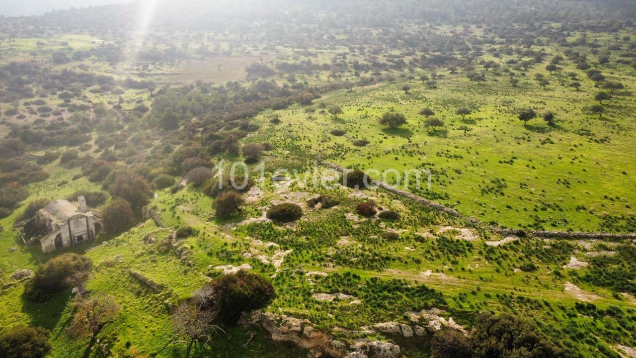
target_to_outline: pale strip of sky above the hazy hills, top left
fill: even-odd
[[[0,15],[8,17],[41,15],[53,10],[130,3],[132,0],[5,0],[0,2]]]

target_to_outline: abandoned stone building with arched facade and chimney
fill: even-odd
[[[43,252],[52,252],[95,240],[102,229],[100,214],[86,206],[83,196],[75,203],[59,199],[39,210],[18,234],[25,244],[39,243]]]

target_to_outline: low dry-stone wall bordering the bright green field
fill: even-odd
[[[340,171],[341,173],[345,173],[349,169],[339,166],[337,164],[329,163],[329,162],[321,162],[323,166],[327,168],[334,169],[336,171]],[[371,184],[376,187],[380,187],[388,192],[392,192],[401,197],[405,197],[406,199],[410,199],[415,201],[416,203],[423,204],[428,206],[429,208],[434,208],[439,211],[443,211],[452,217],[464,218],[471,224],[480,227],[488,227],[488,229],[494,231],[495,233],[502,234],[505,236],[538,236],[540,238],[570,238],[570,239],[605,239],[605,240],[621,240],[621,239],[634,239],[636,240],[636,234],[616,234],[616,233],[583,233],[579,231],[541,231],[541,230],[532,230],[532,231],[523,231],[520,229],[508,229],[499,226],[488,226],[485,222],[479,220],[475,217],[467,217],[466,215],[462,215],[459,211],[449,208],[443,204],[436,203],[429,199],[425,199],[424,197],[417,196],[411,192],[407,192],[405,190],[397,189],[392,185],[389,185],[384,182],[380,182],[379,180],[371,180]]]

